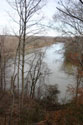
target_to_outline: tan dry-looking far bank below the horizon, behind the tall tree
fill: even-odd
[[[2,36],[0,36],[1,39]],[[15,36],[5,36],[4,46],[10,52],[15,52],[19,39]],[[54,43],[53,37],[33,37],[29,36],[26,40],[26,49],[40,48]]]

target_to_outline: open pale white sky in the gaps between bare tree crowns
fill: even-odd
[[[47,0],[47,4],[43,8],[43,13],[46,17],[45,23],[52,22],[52,17],[55,12],[56,0]],[[0,0],[0,33],[3,32],[3,29],[11,32],[11,29],[15,27],[8,13],[10,13],[10,15],[12,14],[11,7],[8,5],[6,0]],[[47,31],[48,36],[57,36],[57,34],[58,33],[51,28],[49,28]]]

